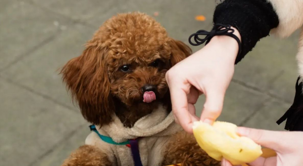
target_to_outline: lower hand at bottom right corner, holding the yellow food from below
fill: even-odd
[[[277,156],[259,157],[250,166],[299,166],[303,163],[303,132],[277,132],[239,127],[237,133],[248,137],[257,144],[276,151]],[[232,166],[227,160],[222,160],[223,166]]]

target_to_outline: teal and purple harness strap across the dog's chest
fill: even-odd
[[[100,135],[100,133],[97,131],[94,125],[90,125],[89,129],[90,131],[94,131],[100,137],[100,139],[102,139],[106,143],[114,144],[114,145],[126,145],[127,147],[130,147],[135,166],[143,166],[140,158],[139,144],[137,139],[127,140],[125,142],[117,143],[111,137]]]

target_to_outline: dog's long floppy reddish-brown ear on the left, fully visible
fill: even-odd
[[[84,118],[100,126],[111,121],[114,111],[105,52],[103,48],[87,46],[82,55],[71,59],[61,70]]]

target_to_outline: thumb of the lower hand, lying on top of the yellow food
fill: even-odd
[[[275,151],[280,151],[284,147],[284,143],[287,142],[287,138],[285,138],[286,132],[276,132],[238,127],[237,133],[240,136],[252,139],[252,141],[256,142],[261,146],[273,149]]]

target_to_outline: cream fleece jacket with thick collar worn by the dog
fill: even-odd
[[[181,127],[174,121],[173,112],[167,113],[163,106],[152,113],[137,120],[132,128],[126,128],[120,119],[113,114],[113,121],[103,127],[96,126],[100,135],[111,137],[116,143],[141,137],[138,141],[142,165],[161,165],[163,150],[172,135],[181,131]],[[108,155],[112,165],[134,165],[131,149],[127,146],[109,144],[92,132],[85,140],[85,144],[94,145]]]

